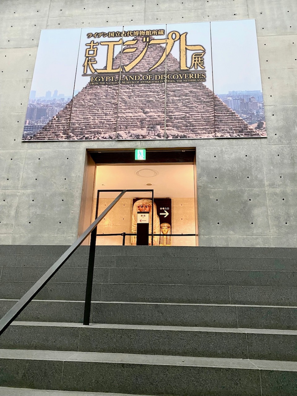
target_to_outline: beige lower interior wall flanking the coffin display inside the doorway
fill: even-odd
[[[114,198],[100,198],[99,214]],[[104,217],[97,228],[98,234],[117,234],[131,232],[133,198],[121,200]],[[195,199],[172,198],[172,230],[173,234],[195,234]],[[93,218],[95,218],[94,204]],[[122,245],[122,236],[98,236],[97,245]],[[126,236],[126,245],[131,244],[131,237]],[[171,238],[172,246],[196,246],[195,236],[175,236]]]

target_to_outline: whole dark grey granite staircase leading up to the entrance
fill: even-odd
[[[66,246],[0,246],[0,316]],[[0,337],[0,396],[297,395],[297,249],[81,246]],[[101,392],[101,393],[100,393]]]

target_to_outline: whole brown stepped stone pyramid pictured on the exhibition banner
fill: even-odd
[[[136,51],[118,53],[113,67],[122,65],[125,70],[124,66],[129,65],[145,45],[143,37],[137,37]],[[163,53],[161,44],[148,45],[141,61],[128,73],[122,72],[121,78],[146,74]],[[165,67],[169,72],[181,72],[179,61],[169,53],[166,62],[151,71],[160,74],[162,82],[120,83],[119,86],[88,83],[48,124],[27,139],[201,139],[263,135],[202,82],[165,84]]]

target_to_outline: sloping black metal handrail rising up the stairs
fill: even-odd
[[[86,229],[85,232],[65,251],[65,253],[46,271],[46,273],[27,291],[23,297],[0,319],[0,335],[7,329],[7,327],[17,318],[17,316],[27,307],[27,305],[34,299],[39,291],[48,283],[48,281],[55,275],[55,273],[62,267],[62,265],[69,259],[69,257],[76,251],[76,249],[84,242],[90,233],[92,235],[97,233],[97,225],[105,215],[114,207],[114,205],[122,198],[127,190],[120,190],[121,193],[112,201],[112,203],[101,213],[99,217]],[[92,238],[91,238],[92,241]],[[95,241],[96,242],[96,241]],[[89,253],[89,265],[93,260],[94,267],[95,249],[91,249]],[[89,268],[88,268],[89,277]],[[87,290],[86,290],[87,297]],[[89,297],[89,296],[88,296]],[[87,301],[86,301],[87,305]],[[85,305],[85,311],[86,311]],[[85,315],[86,316],[86,315]]]

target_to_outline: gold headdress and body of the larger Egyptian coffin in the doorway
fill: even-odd
[[[149,206],[149,215],[148,215],[148,233],[152,233],[152,200],[151,199],[139,199],[136,201],[133,205],[132,209],[132,227],[131,227],[131,233],[136,234],[137,231],[137,211],[139,206],[144,205],[144,206]],[[141,211],[141,210],[140,210]],[[154,202],[154,234],[160,234],[160,219],[157,213],[157,207]],[[153,244],[154,246],[158,246],[160,242],[160,236],[154,236],[153,238]],[[148,244],[152,244],[152,237],[148,237]],[[131,245],[136,245],[136,235],[131,236]]]

